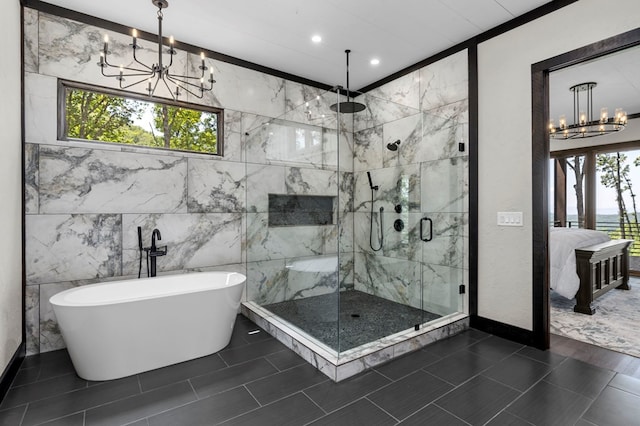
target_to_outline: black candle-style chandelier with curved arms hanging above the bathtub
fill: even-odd
[[[114,77],[120,83],[121,89],[128,89],[129,87],[138,85],[140,83],[147,82],[147,92],[149,96],[153,96],[158,85],[164,85],[174,100],[178,99],[182,92],[187,92],[198,99],[204,96],[204,92],[210,92],[213,89],[213,83],[216,81],[213,79],[213,67],[209,69],[209,78],[205,84],[205,71],[207,67],[204,64],[204,53],[200,53],[201,64],[198,67],[201,70],[200,76],[188,76],[181,74],[174,74],[171,71],[171,65],[173,65],[173,55],[177,52],[174,49],[173,36],[169,37],[169,48],[163,52],[162,42],[162,9],[169,7],[167,0],[151,0],[154,6],[158,8],[158,62],[153,65],[147,65],[136,56],[136,52],[142,49],[142,46],[138,45],[137,37],[138,31],[133,30],[133,41],[129,45],[131,46],[133,61],[139,65],[134,67],[124,65],[114,65],[109,63],[109,37],[104,36],[104,46],[100,52],[100,62],[98,66],[105,77]],[[163,54],[169,54],[169,64],[164,65]],[[108,70],[116,69],[115,73],[108,73]],[[132,82],[125,83],[128,79]]]

